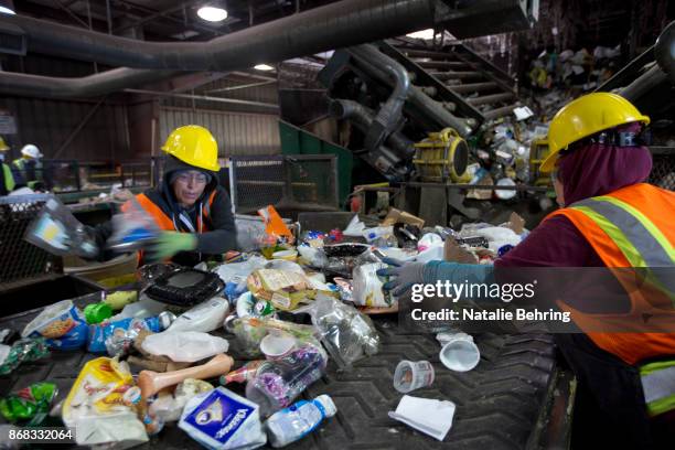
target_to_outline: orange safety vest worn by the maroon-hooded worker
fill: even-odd
[[[675,355],[675,277],[649,268],[675,267],[675,193],[641,183],[622,188],[608,195],[587,199],[549,214],[567,217],[583,235],[609,268],[644,267],[647,283],[631,289],[615,270],[631,299],[631,311],[622,314],[590,314],[558,302],[569,311],[575,323],[600,349],[628,364],[642,360]],[[644,330],[645,314],[650,332]],[[597,332],[607,324],[635,332]],[[596,331],[591,331],[596,330]],[[652,332],[664,330],[664,332]]]

